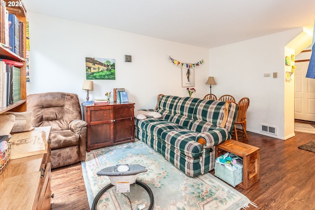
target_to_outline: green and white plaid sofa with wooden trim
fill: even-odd
[[[237,104],[159,95],[162,118],[135,119],[135,136],[190,177],[214,169],[215,146],[231,138]]]

